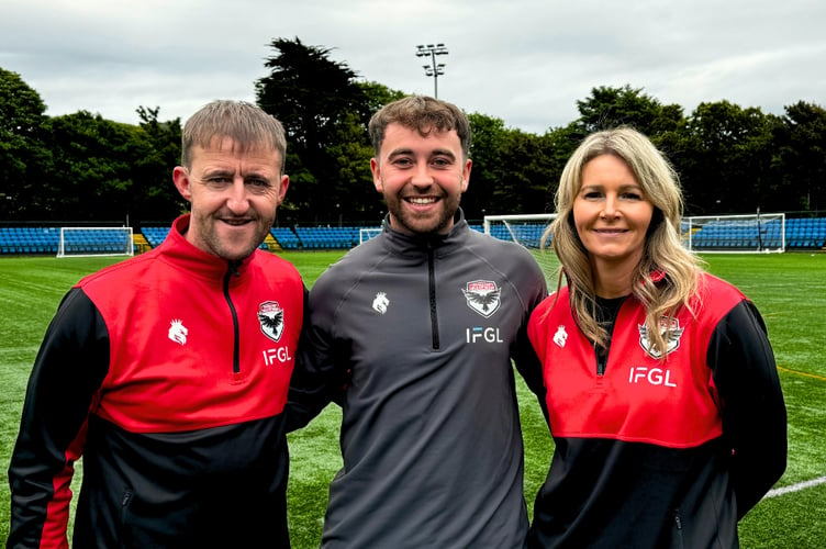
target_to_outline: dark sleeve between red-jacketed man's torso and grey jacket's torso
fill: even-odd
[[[336,351],[332,335],[323,327],[326,314],[321,307],[311,306],[305,292],[304,323],[287,396],[288,433],[306,426],[331,402],[342,402],[346,376],[335,357],[349,354]]]

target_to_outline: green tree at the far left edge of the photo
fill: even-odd
[[[44,173],[52,155],[44,144],[48,134],[46,105],[16,72],[0,68],[0,220],[43,216],[34,202],[52,192]]]

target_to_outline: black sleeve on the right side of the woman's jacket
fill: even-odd
[[[716,326],[707,351],[730,446],[730,478],[741,518],[786,466],[786,411],[766,324],[741,301]]]

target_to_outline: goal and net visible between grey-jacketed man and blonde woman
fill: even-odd
[[[548,287],[556,289],[559,261],[549,240],[542,249],[543,233],[556,216],[555,213],[485,215],[483,231],[494,238],[515,242],[527,248],[545,272]]]

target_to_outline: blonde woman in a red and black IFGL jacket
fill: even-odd
[[[760,313],[682,247],[677,175],[639,132],[587,137],[556,209],[559,284],[528,325],[556,448],[529,546],[738,547],[786,462]]]

